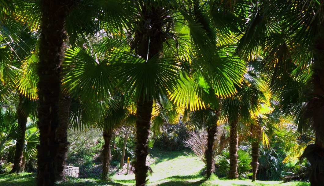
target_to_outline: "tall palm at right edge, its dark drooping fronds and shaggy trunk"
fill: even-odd
[[[284,77],[295,77],[295,72],[306,69],[312,74],[312,92],[304,104],[302,120],[298,122],[299,129],[305,124],[315,131],[315,144],[308,145],[302,158],[311,162],[311,185],[320,185],[324,180],[320,169],[324,166],[324,133],[323,133],[323,1],[273,1],[266,3],[257,1],[252,19],[245,30],[246,38],[238,48],[241,52],[263,49],[269,54],[266,61],[274,67],[273,79],[280,77],[281,87],[289,87]],[[262,4],[261,4],[262,3]],[[254,7],[258,5],[255,4]],[[267,11],[264,11],[267,10]],[[254,14],[256,13],[256,14]],[[259,16],[258,16],[259,15]],[[269,17],[268,17],[269,16]],[[268,19],[268,18],[276,19]],[[279,24],[278,24],[279,23]],[[270,26],[271,25],[271,26]],[[270,27],[269,27],[270,26]],[[263,28],[263,29],[257,29]],[[259,41],[256,43],[256,41]],[[251,53],[249,53],[251,54]],[[294,67],[294,73],[286,71]],[[301,108],[301,107],[300,107]]]

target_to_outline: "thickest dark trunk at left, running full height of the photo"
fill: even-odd
[[[71,0],[41,0],[40,61],[37,67],[39,82],[38,128],[40,144],[37,147],[37,185],[52,186],[55,182],[55,140],[59,125],[58,105],[61,94],[60,68],[64,59],[65,21],[71,9]]]

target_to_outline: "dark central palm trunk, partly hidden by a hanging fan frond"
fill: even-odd
[[[137,23],[137,30],[135,32],[134,40],[131,48],[135,53],[146,60],[151,59],[153,56],[158,56],[162,51],[162,44],[165,41],[165,36],[162,32],[163,17],[166,16],[166,10],[162,7],[155,7],[154,2],[147,2],[147,5],[141,5],[142,20]],[[148,22],[147,20],[150,20]],[[151,127],[151,116],[153,99],[152,96],[143,97],[145,84],[140,91],[140,98],[137,100],[137,113],[136,113],[136,161],[133,162],[135,168],[136,186],[144,186],[148,170],[146,166],[146,156],[148,155],[148,137]]]

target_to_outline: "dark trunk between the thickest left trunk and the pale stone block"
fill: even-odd
[[[71,105],[71,97],[62,94],[59,100],[59,126],[56,129],[55,139],[58,143],[57,154],[55,156],[55,181],[66,181],[64,166],[66,165],[67,151],[69,142],[67,141],[67,130],[69,128],[69,109]]]

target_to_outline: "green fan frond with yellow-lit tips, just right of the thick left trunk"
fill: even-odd
[[[66,52],[62,89],[81,100],[102,101],[110,97],[115,85],[114,69],[106,60],[93,58],[79,47]]]

